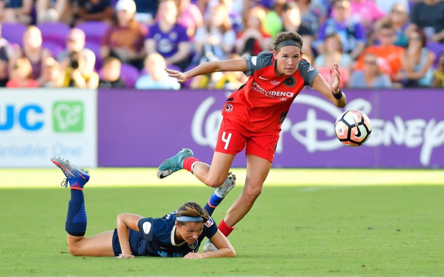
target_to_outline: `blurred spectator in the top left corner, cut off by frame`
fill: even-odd
[[[32,21],[33,0],[1,0],[0,22],[18,22],[28,25]]]

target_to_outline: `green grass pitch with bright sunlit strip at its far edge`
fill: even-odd
[[[212,192],[189,173],[153,172],[92,170],[86,235],[115,228],[120,212],[160,217]],[[217,222],[242,190],[245,171],[234,172]],[[237,257],[208,260],[70,255],[62,179],[58,169],[0,170],[0,276],[444,276],[443,171],[272,170],[229,237]]]

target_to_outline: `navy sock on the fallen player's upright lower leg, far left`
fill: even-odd
[[[68,203],[65,230],[75,237],[83,237],[86,232],[86,209],[83,190],[71,189],[71,200]]]

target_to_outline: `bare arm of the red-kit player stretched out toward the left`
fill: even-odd
[[[178,83],[185,83],[189,78],[206,75],[220,71],[247,71],[247,62],[244,59],[213,61],[200,64],[197,67],[186,72],[181,72],[173,69],[165,69],[168,76],[177,79]]]

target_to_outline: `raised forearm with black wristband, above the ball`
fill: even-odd
[[[330,100],[335,106],[343,108],[345,104],[347,104],[347,99],[345,98],[345,94],[339,91],[339,84],[341,82],[341,73],[339,72],[339,67],[337,64],[334,64],[329,72],[329,82],[318,73],[313,80],[313,88],[319,91],[322,95],[324,95],[328,100]],[[336,99],[336,97],[340,96],[340,99]]]

